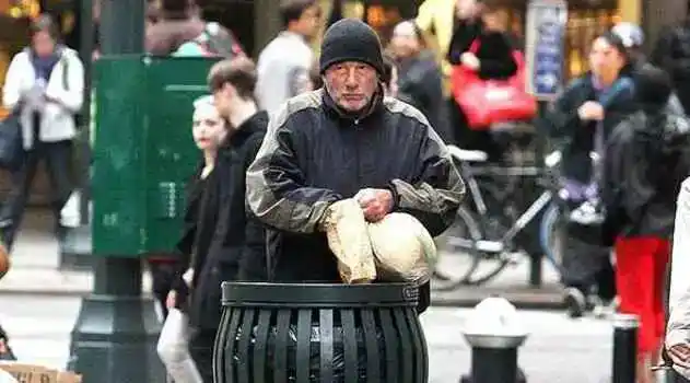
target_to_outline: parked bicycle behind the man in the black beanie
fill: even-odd
[[[438,240],[440,247],[445,249],[440,257],[435,276],[435,290],[454,290],[463,285],[478,286],[498,276],[510,264],[514,264],[521,256],[517,236],[535,220],[540,212],[554,201],[554,192],[559,188],[557,165],[560,163],[560,152],[549,154],[546,167],[536,166],[480,166],[488,158],[484,152],[463,150],[449,146],[448,150],[465,181],[469,197],[469,206],[461,206],[457,219]],[[517,185],[519,179],[534,178],[543,192],[531,204],[515,217],[506,213],[504,198],[496,198],[496,194],[505,195],[510,199],[512,193],[492,187],[492,182],[480,183],[478,179],[508,179],[508,185]],[[491,211],[493,199],[494,211]],[[488,204],[489,201],[489,204]],[[511,205],[511,204],[508,204]],[[495,208],[503,209],[496,213]],[[560,263],[546,255],[558,269]],[[452,265],[449,265],[452,264]],[[445,266],[444,266],[445,265]]]

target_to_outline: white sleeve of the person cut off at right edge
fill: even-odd
[[[690,341],[690,178],[682,183],[676,209],[666,346]]]

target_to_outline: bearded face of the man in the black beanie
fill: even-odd
[[[344,61],[326,69],[325,83],[331,98],[347,112],[361,112],[378,88],[378,73],[363,62]]]

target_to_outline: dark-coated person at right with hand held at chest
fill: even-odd
[[[625,76],[625,47],[606,33],[594,39],[592,71],[573,80],[547,113],[545,128],[564,142],[562,166],[564,212],[563,248],[565,303],[573,317],[589,306],[594,286],[606,304],[613,302],[616,285],[610,249],[601,241],[600,184],[605,144],[613,128],[635,112],[634,82]]]

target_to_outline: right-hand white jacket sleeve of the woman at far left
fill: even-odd
[[[60,86],[48,89],[47,96],[57,98],[58,102],[71,113],[78,113],[84,102],[84,66],[75,53],[68,50],[65,53],[65,62],[61,62],[61,70],[66,76],[67,89],[60,79]]]

